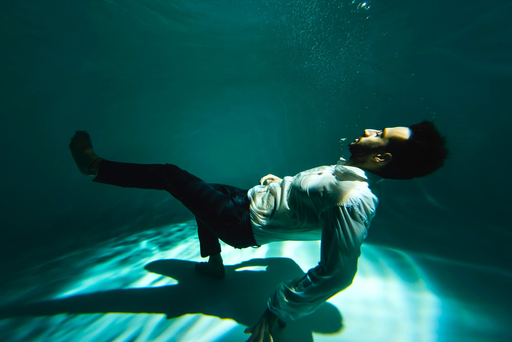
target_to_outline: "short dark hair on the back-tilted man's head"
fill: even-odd
[[[384,148],[392,155],[378,175],[389,179],[412,179],[433,173],[443,165],[449,155],[446,137],[442,137],[434,123],[423,120],[409,126],[409,139],[392,138]]]

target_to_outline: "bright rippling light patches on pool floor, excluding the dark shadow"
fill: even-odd
[[[76,251],[54,262],[57,266],[52,268],[52,275],[55,278],[55,274],[59,274],[60,278],[53,279],[50,292],[45,293],[44,291],[45,279],[48,275],[32,273],[30,278],[19,280],[18,288],[10,290],[9,303],[22,301],[33,288],[28,285],[24,287],[23,284],[31,284],[37,277],[39,277],[40,295],[32,300],[54,301],[53,303],[59,303],[58,301],[62,300],[63,303],[66,303],[69,298],[80,298],[86,294],[91,294],[91,298],[95,298],[96,293],[112,290],[134,289],[137,291],[141,288],[173,290],[173,287],[178,286],[181,280],[150,272],[144,266],[150,263],[160,265],[169,259],[179,259],[181,263],[180,261],[170,262],[174,262],[175,266],[182,265],[185,273],[188,272],[188,269],[193,272],[191,269],[194,264],[191,262],[203,260],[199,254],[196,229],[195,221],[189,221],[137,233],[124,239],[114,239],[89,249]],[[319,241],[287,241],[264,245],[260,248],[234,249],[222,244],[222,255],[226,265],[240,264],[236,276],[239,274],[253,276],[254,272],[258,272],[258,276],[260,276],[275,269],[271,263],[247,266],[247,262],[249,261],[250,264],[251,260],[257,260],[257,264],[262,264],[262,261],[264,264],[265,260],[276,262],[282,260],[288,262],[290,267],[295,265],[298,272],[301,270],[304,272],[317,264],[319,245]],[[263,260],[263,258],[269,259]],[[293,261],[285,258],[291,258]],[[421,266],[422,262],[427,259],[426,256],[364,244],[361,248],[358,272],[353,284],[330,298],[329,307],[326,307],[326,310],[335,310],[330,312],[335,312],[339,316],[339,322],[316,329],[314,323],[309,326],[308,322],[310,321],[307,319],[303,321],[306,323],[289,321],[285,329],[274,334],[274,340],[276,342],[297,339],[301,341],[415,342],[451,340],[450,336],[452,335],[449,330],[440,330],[442,319],[446,319],[445,316],[450,315],[451,312],[447,310],[447,306],[458,308],[453,312],[465,313],[465,316],[461,317],[450,316],[450,319],[457,320],[459,327],[468,329],[466,332],[459,332],[459,337],[471,336],[473,321],[468,317],[478,317],[480,322],[494,322],[490,328],[505,331],[506,328],[485,311],[474,312],[471,305],[464,305],[457,298],[443,298],[436,294],[436,284],[429,276],[429,272],[432,274],[433,268],[425,270]],[[439,263],[439,261],[430,260],[430,263],[436,262]],[[443,263],[446,264],[446,262]],[[55,272],[55,269],[59,272]],[[285,269],[283,268],[282,271]],[[229,282],[229,276],[235,276],[231,274],[234,273],[228,273],[223,282]],[[251,288],[251,291],[264,284],[253,285],[255,287]],[[215,288],[215,286],[217,286],[215,282],[208,283],[205,280],[205,291]],[[121,294],[124,296],[124,293],[127,292]],[[186,293],[186,291],[181,293]],[[193,303],[194,295],[188,295],[190,298],[177,298],[176,305],[181,305],[184,303],[183,301]],[[216,295],[216,293],[212,293],[212,296]],[[233,313],[233,317],[229,317],[229,312],[236,311],[232,308],[234,304],[223,302],[223,298],[219,297],[215,300],[218,301],[219,307],[224,307],[219,311],[223,312],[225,316],[221,318],[205,312],[187,312],[177,317],[167,317],[165,312],[116,313],[115,311],[112,313],[106,313],[109,311],[54,313],[36,317],[24,316],[24,314],[15,314],[14,317],[9,317],[7,314],[7,318],[0,320],[0,339],[38,342],[243,341],[248,337],[243,334],[243,329],[250,324],[251,319],[257,319],[262,313],[262,310],[258,309],[264,309],[264,298],[268,297],[270,293],[259,295],[261,297],[259,303],[253,306],[247,304],[247,307],[254,312],[250,313],[249,318],[244,316],[246,322],[243,323],[237,322],[235,319],[240,315],[237,316]],[[140,298],[144,300],[144,298],[153,297],[137,294],[137,296],[128,296],[127,298],[137,301]],[[6,303],[7,295],[4,295],[3,299]],[[169,299],[173,298],[162,298],[162,301]],[[83,305],[83,303],[79,305]],[[158,308],[158,305],[155,305]],[[146,308],[143,304],[141,307]],[[194,305],[190,305],[190,308],[194,308]],[[66,310],[62,312],[66,312]],[[332,314],[329,316],[331,319],[338,317]],[[318,322],[327,319],[326,317],[322,317],[321,314],[318,317]],[[443,331],[446,336],[441,334]]]

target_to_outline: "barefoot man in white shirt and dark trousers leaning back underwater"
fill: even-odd
[[[348,145],[351,157],[293,177],[267,175],[251,189],[206,183],[174,164],[134,164],[105,160],[93,150],[89,134],[76,131],[71,153],[94,182],[166,190],[196,217],[201,257],[198,272],[226,274],[219,239],[234,248],[273,241],[321,240],[318,265],[297,279],[282,282],[252,327],[248,341],[262,341],[279,319],[293,320],[315,311],[352,284],[360,246],[375,216],[375,185],[383,179],[423,177],[443,165],[445,137],[431,121],[409,127],[367,129]]]

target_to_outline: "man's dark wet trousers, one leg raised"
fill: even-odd
[[[134,164],[100,160],[93,182],[166,190],[197,221],[201,257],[221,252],[219,239],[234,248],[257,246],[252,235],[247,191],[206,183],[173,164]]]

